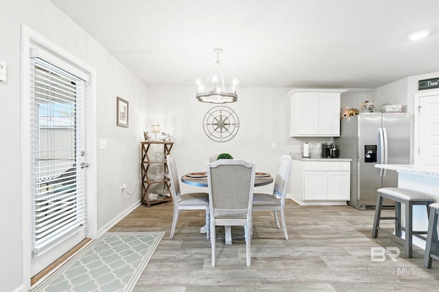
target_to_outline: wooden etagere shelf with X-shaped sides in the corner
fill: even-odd
[[[160,150],[152,153],[152,148],[157,150],[161,145],[163,145],[163,152]],[[147,207],[151,207],[152,204],[172,200],[171,191],[169,189],[171,183],[167,177],[168,170],[166,164],[166,156],[171,154],[172,146],[174,146],[174,142],[141,142],[141,194],[142,202],[146,204]],[[152,166],[156,168],[155,172],[152,170]],[[162,185],[161,190],[163,192],[158,194],[158,198],[150,199],[149,194],[151,194],[151,190],[154,188],[153,186],[160,186],[160,184]]]

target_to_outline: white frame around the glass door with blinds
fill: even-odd
[[[29,107],[29,47],[31,42],[37,42],[43,47],[62,55],[71,64],[82,68],[90,76],[90,85],[87,88],[86,96],[89,98],[86,107],[87,133],[86,147],[88,148],[88,169],[86,171],[86,198],[87,198],[87,237],[95,239],[97,237],[97,153],[96,153],[96,72],[88,64],[82,62],[68,51],[65,51],[54,42],[47,40],[36,31],[26,25],[21,25],[21,206],[22,206],[22,246],[23,246],[23,285],[26,291],[30,290],[31,278],[31,254],[32,254],[32,194],[33,185],[29,181],[32,170],[30,162],[32,157],[29,153],[30,145],[30,114]]]

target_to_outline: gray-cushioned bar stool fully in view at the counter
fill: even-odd
[[[405,231],[405,256],[412,257],[412,235],[424,239],[421,234],[427,234],[427,231],[413,231],[413,206],[425,205],[427,207],[427,214],[429,213],[429,204],[433,202],[431,196],[421,193],[419,191],[412,191],[411,189],[401,189],[399,187],[383,187],[377,190],[377,207],[375,209],[375,220],[373,223],[372,237],[377,238],[378,230],[381,230],[389,235],[394,235],[401,238],[401,231]],[[381,217],[381,209],[383,207],[383,198],[387,198],[395,202],[395,216]],[[401,204],[405,205],[405,227],[401,226]],[[394,220],[395,233],[390,233],[388,230],[379,227],[380,220]]]

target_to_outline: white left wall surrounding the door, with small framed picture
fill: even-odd
[[[143,139],[146,87],[93,38],[47,0],[1,1],[0,59],[8,64],[8,81],[0,82],[0,283],[2,291],[26,291],[23,266],[21,202],[21,23],[92,66],[97,72],[97,139],[108,149],[97,152],[97,228],[105,229],[123,211],[139,202],[139,191],[121,196],[119,185],[133,191],[139,176],[139,141]],[[130,127],[116,126],[116,96],[130,103]],[[29,200],[31,195],[29,194]],[[29,251],[24,251],[30,255]],[[24,272],[23,272],[24,271]]]

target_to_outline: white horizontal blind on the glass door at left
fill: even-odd
[[[85,81],[31,58],[33,249],[38,256],[86,224],[84,170],[78,165],[85,120]]]

